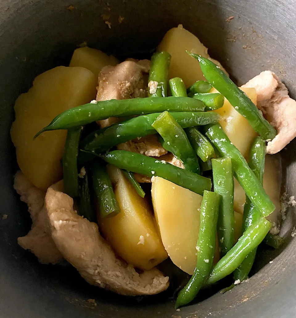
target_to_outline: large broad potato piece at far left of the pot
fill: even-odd
[[[60,159],[67,131],[44,132],[35,140],[34,135],[64,110],[94,99],[96,85],[89,70],[58,66],[38,75],[28,93],[16,100],[11,139],[20,169],[37,188],[46,190],[62,178]]]

